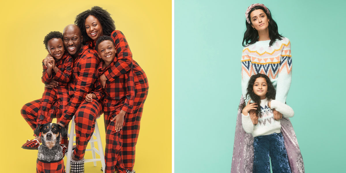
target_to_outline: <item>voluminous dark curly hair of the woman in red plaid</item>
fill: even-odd
[[[115,30],[114,20],[110,17],[110,13],[99,6],[94,6],[90,10],[79,13],[74,21],[74,24],[82,31],[83,43],[91,40],[85,30],[85,19],[90,15],[95,16],[100,21],[103,35],[110,35],[112,31]]]

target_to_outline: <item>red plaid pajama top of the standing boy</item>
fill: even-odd
[[[98,78],[103,72],[113,67],[115,62],[111,63],[108,67],[102,67],[103,64],[104,62],[101,61],[97,69]],[[106,81],[103,96],[103,109],[105,112],[116,110],[119,107],[125,112],[132,112],[135,99],[135,83],[133,80],[133,71],[130,69],[127,73],[120,75],[112,82]]]

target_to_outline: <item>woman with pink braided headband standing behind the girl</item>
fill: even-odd
[[[247,103],[251,97],[243,98],[250,77],[262,73],[267,75],[276,89],[275,99],[281,103],[291,85],[292,57],[291,42],[278,32],[276,22],[269,9],[263,4],[252,4],[245,13],[246,31],[243,38],[242,64],[242,97],[240,104]],[[245,99],[245,100],[244,100]],[[303,173],[304,163],[299,149],[297,137],[289,118],[273,110],[274,119],[281,119],[281,133],[293,173]],[[257,124],[256,116],[251,118]],[[238,109],[236,131],[234,137],[231,173],[253,172],[254,138],[242,128],[242,110]]]

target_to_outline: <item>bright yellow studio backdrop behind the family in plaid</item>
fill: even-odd
[[[136,146],[138,173],[171,172],[172,166],[172,2],[171,1],[4,1],[1,13],[1,167],[0,172],[35,172],[37,150],[22,149],[33,130],[21,107],[42,97],[44,36],[63,31],[80,12],[100,6],[111,13],[127,38],[133,59],[146,72],[149,93]],[[56,119],[53,120],[56,122]],[[98,119],[103,148],[103,115]],[[90,145],[88,145],[90,148]],[[96,146],[96,148],[98,148]],[[85,158],[91,158],[86,152]],[[64,157],[66,164],[66,157]],[[85,173],[101,172],[85,163]]]

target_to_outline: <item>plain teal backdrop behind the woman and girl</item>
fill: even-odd
[[[345,1],[174,1],[174,169],[230,172],[245,11],[263,3],[291,40],[287,97],[305,172],[345,170]]]

